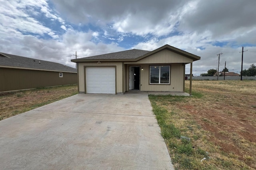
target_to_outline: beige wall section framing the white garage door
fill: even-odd
[[[78,63],[78,91],[80,93],[85,93],[85,67],[86,66],[114,66],[116,67],[116,93],[123,93],[123,72],[122,72],[122,63],[121,62],[102,62],[98,64],[97,62],[94,63]]]

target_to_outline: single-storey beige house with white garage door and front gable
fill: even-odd
[[[200,57],[164,45],[153,51],[131,49],[72,59],[78,64],[78,92],[124,94],[131,90],[184,92],[185,64]],[[190,82],[191,94],[191,82]]]

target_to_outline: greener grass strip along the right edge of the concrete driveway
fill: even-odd
[[[161,135],[166,141],[168,149],[171,150],[172,163],[175,169],[191,170],[191,169],[212,169],[211,166],[200,167],[200,160],[206,155],[206,151],[200,147],[194,147],[191,140],[198,139],[198,135],[191,136],[191,140],[181,139],[181,136],[188,135],[187,131],[198,129],[195,121],[187,121],[187,126],[180,128],[176,126],[176,117],[180,117],[175,110],[168,109],[157,104],[159,102],[186,102],[190,97],[185,96],[155,96],[149,95],[153,112],[156,115],[158,125],[161,128]],[[174,122],[176,123],[174,123]],[[186,130],[185,130],[186,129]]]

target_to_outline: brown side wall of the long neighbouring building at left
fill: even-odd
[[[0,92],[77,84],[77,73],[0,68]]]

